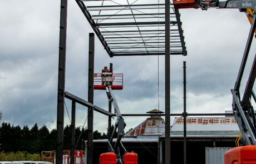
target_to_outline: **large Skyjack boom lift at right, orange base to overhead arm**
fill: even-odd
[[[256,102],[256,95],[253,91],[253,85],[256,78],[256,55],[254,57],[253,66],[250,70],[247,85],[245,87],[244,95],[240,96],[240,83],[242,81],[244,68],[247,63],[247,58],[252,44],[253,35],[256,26],[256,0],[174,0],[174,7],[178,8],[201,8],[206,10],[208,8],[238,8],[240,12],[245,12],[252,24],[249,32],[249,37],[243,54],[242,63],[240,65],[237,81],[234,89],[231,90],[233,95],[233,113],[237,121],[240,132],[242,133],[243,147],[233,148],[225,153],[225,164],[231,163],[256,163],[256,118],[254,108],[252,106],[252,98]]]

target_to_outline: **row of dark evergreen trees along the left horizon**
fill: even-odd
[[[114,126],[111,127],[111,131]],[[106,139],[108,133],[93,131],[93,139]],[[78,141],[78,137],[80,140]],[[85,128],[75,128],[75,145],[77,150],[81,150],[87,140],[88,131]],[[117,136],[117,133],[114,135]],[[48,130],[43,125],[38,128],[37,123],[29,129],[28,126],[13,126],[10,123],[2,122],[0,127],[0,151],[3,152],[28,152],[41,153],[42,151],[55,151],[57,143],[57,130]],[[63,150],[71,149],[71,125],[67,125],[63,131]],[[84,148],[84,147],[83,147]]]

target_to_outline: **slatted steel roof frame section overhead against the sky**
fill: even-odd
[[[165,54],[164,0],[76,0],[110,57]],[[170,4],[170,54],[186,56],[180,14]]]

